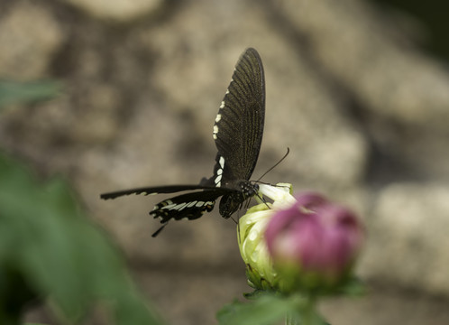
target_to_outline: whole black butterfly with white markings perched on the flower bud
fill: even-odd
[[[259,186],[249,181],[261,149],[265,118],[265,80],[259,53],[250,48],[238,60],[233,79],[226,90],[215,117],[213,137],[218,153],[214,175],[203,178],[198,185],[157,186],[119,190],[101,194],[102,199],[115,199],[129,194],[174,193],[197,190],[156,204],[150,212],[160,218],[163,226],[171,218],[196,219],[212,211],[215,200],[220,200],[220,214],[229,218],[242,208],[243,202],[254,196]]]

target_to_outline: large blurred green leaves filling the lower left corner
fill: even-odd
[[[98,302],[110,307],[115,324],[161,323],[133,287],[114,245],[88,221],[64,181],[42,184],[2,153],[0,180],[0,270],[18,274],[23,292],[50,296],[57,314],[71,323]],[[2,285],[9,283],[3,275],[0,299],[8,299],[17,286]],[[30,295],[25,298],[17,303]],[[0,307],[0,320],[8,311]]]

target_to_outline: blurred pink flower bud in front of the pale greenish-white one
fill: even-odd
[[[265,231],[284,291],[341,283],[363,237],[362,225],[352,211],[316,193],[300,195],[288,209],[278,210]]]

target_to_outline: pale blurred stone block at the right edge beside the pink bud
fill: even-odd
[[[433,294],[449,292],[449,186],[395,183],[380,190],[362,274]]]

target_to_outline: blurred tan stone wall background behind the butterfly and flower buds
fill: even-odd
[[[253,179],[319,190],[357,211],[369,240],[359,300],[332,324],[449,322],[449,43],[441,2],[1,0],[0,79],[53,79],[59,97],[0,116],[0,147],[63,175],[114,237],[171,324],[215,322],[242,292],[235,224],[170,222],[160,197],[105,191],[212,175],[212,126],[239,55],[257,49],[266,122]],[[1,181],[1,180],[0,180]],[[46,306],[27,320],[49,321]],[[94,323],[94,322],[93,322]]]

